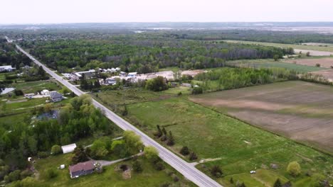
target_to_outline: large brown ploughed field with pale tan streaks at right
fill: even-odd
[[[192,96],[191,101],[333,152],[333,87],[287,81]]]

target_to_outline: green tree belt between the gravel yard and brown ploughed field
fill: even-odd
[[[203,81],[203,90],[211,90],[208,81],[216,81],[217,90],[238,89],[245,86],[268,84],[275,81],[297,79],[297,72],[282,68],[252,69],[252,68],[221,68],[198,74],[194,79]]]

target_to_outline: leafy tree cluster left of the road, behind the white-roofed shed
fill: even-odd
[[[8,166],[0,180],[11,171],[26,169],[28,157],[47,157],[53,145],[68,145],[83,137],[110,135],[113,131],[110,121],[93,107],[88,96],[73,98],[60,109],[56,120],[42,119],[31,125],[30,118],[14,123],[10,129],[0,127],[0,159]]]

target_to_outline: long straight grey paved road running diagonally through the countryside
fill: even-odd
[[[6,38],[9,40],[9,38]],[[10,42],[10,40],[9,40]],[[67,86],[68,89],[73,91],[76,95],[80,96],[82,94],[85,94],[83,91],[75,87],[74,85],[70,84],[65,79],[61,78],[58,74],[51,71],[51,69],[48,69],[45,65],[43,65],[41,62],[36,60],[33,56],[28,54],[28,52],[24,51],[21,47],[16,45],[17,49],[23,52],[26,56],[28,56],[33,62],[38,64],[38,66],[42,66],[43,69],[45,69],[48,74],[50,74],[54,79],[59,81],[64,86]],[[166,149],[162,145],[159,145],[155,140],[153,140],[151,137],[148,137],[144,134],[144,132],[140,131],[139,129],[135,128],[133,125],[125,121],[124,119],[120,118],[120,116],[116,115],[112,111],[110,111],[105,106],[102,106],[101,103],[98,103],[93,99],[93,105],[97,108],[100,108],[102,111],[105,111],[105,115],[107,118],[113,121],[116,125],[118,125],[123,130],[132,130],[137,135],[139,135],[142,139],[142,142],[144,142],[144,145],[152,145],[159,151],[159,157],[161,157],[164,162],[168,163],[170,166],[174,167],[179,173],[183,174],[187,179],[191,180],[192,182],[196,183],[198,186],[221,186],[219,183],[214,181],[213,179],[206,176],[206,174],[203,174],[199,169],[196,169],[193,165],[185,162],[183,159],[176,156],[176,154],[169,151],[169,149]]]

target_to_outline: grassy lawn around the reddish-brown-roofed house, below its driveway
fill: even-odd
[[[132,171],[131,179],[122,179],[122,174],[120,171],[115,171],[115,167],[119,164],[132,165],[132,161],[105,166],[102,174],[90,174],[88,176],[80,176],[78,179],[70,179],[68,164],[70,164],[71,156],[72,154],[60,154],[46,159],[38,159],[36,169],[40,174],[38,181],[41,186],[160,186],[162,183],[174,183],[176,186],[194,186],[193,183],[186,181],[170,166],[166,165],[164,171],[157,171],[143,157],[139,158],[139,162],[142,163],[142,173],[134,173]],[[48,169],[56,169],[60,164],[65,164],[66,168],[57,170],[58,176],[49,180],[43,176]],[[174,171],[181,180],[175,183],[171,176],[166,174],[166,171]]]

